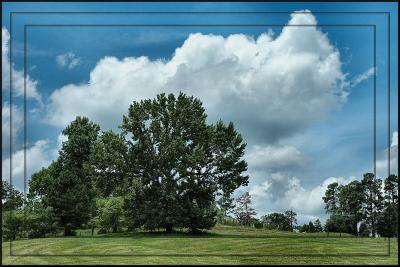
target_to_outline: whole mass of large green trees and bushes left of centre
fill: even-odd
[[[202,102],[183,93],[133,102],[121,133],[100,133],[99,125],[76,117],[62,131],[67,141],[58,158],[32,175],[26,201],[3,183],[3,192],[13,192],[3,194],[3,211],[13,210],[3,214],[5,234],[210,229],[215,199],[230,198],[248,176],[246,143],[234,124],[206,118]]]

